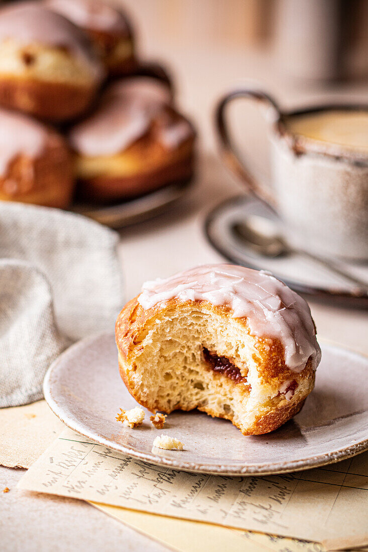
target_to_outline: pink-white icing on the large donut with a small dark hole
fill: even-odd
[[[93,55],[83,31],[39,3],[20,2],[2,8],[0,41],[7,39],[17,40],[27,46],[41,44],[64,48],[85,62],[96,78],[102,77],[102,66]]]

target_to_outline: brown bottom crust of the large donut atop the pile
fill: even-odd
[[[66,121],[86,112],[96,85],[73,85],[0,76],[0,105],[46,121]]]

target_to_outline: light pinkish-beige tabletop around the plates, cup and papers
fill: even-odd
[[[146,22],[149,25],[149,22]],[[181,105],[200,129],[202,154],[197,184],[181,203],[168,213],[120,232],[120,254],[127,300],[139,293],[148,279],[168,276],[196,264],[222,261],[208,244],[203,232],[204,216],[220,200],[241,192],[241,185],[228,174],[213,152],[212,112],[215,98],[239,82],[243,75],[260,79],[262,86],[276,93],[285,105],[298,105],[306,98],[316,99],[320,92],[304,86],[293,92],[262,54],[206,50],[189,47],[167,48],[157,37],[146,44],[150,55],[167,59],[176,68]],[[344,97],[346,97],[345,91]],[[354,97],[365,97],[364,88]],[[323,92],[329,98],[329,91]],[[336,94],[334,94],[336,95]],[[254,126],[247,133],[260,164],[264,137]],[[368,354],[368,317],[366,312],[338,309],[311,303],[319,336]],[[69,552],[70,550],[124,550],[159,552],[166,550],[122,523],[97,511],[85,502],[17,491],[15,486],[24,470],[0,466],[0,549],[3,552]]]

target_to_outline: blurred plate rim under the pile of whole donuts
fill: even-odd
[[[191,181],[169,184],[140,198],[113,205],[75,204],[72,211],[88,216],[110,228],[118,229],[136,222],[143,222],[162,213],[187,192],[190,184]]]

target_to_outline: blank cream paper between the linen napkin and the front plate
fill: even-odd
[[[0,464],[29,468],[65,429],[46,401],[0,408]]]

